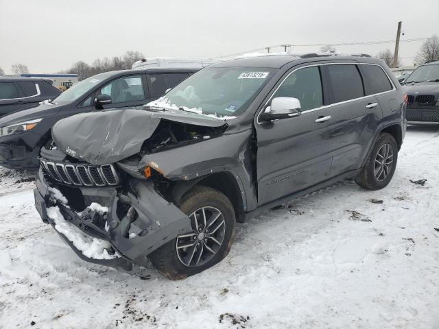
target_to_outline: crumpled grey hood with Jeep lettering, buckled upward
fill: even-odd
[[[73,115],[58,121],[52,138],[64,153],[91,164],[110,164],[139,153],[161,119],[221,127],[223,120],[182,111],[150,112],[137,108]]]

